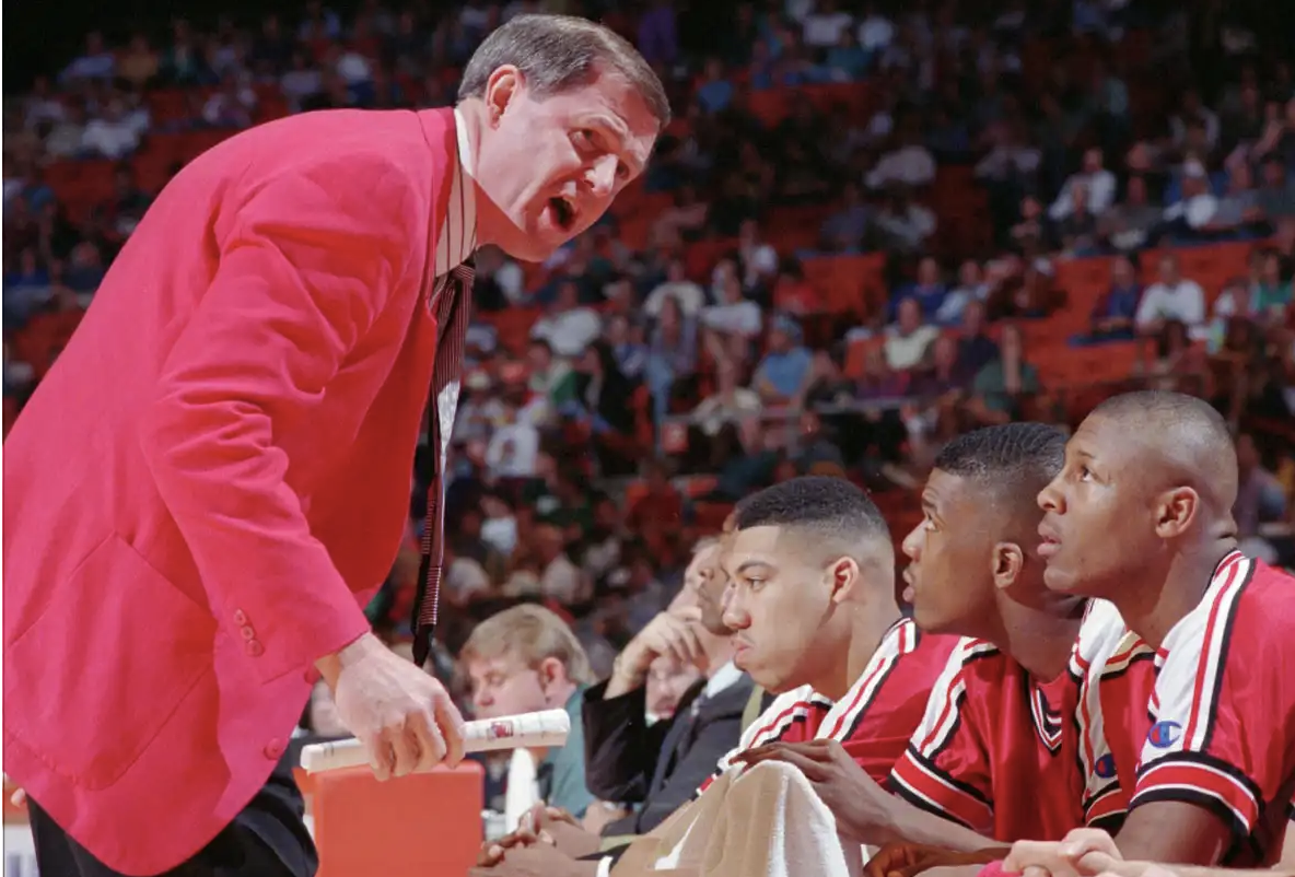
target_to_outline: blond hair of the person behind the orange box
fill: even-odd
[[[509,653],[527,667],[537,667],[545,658],[557,658],[571,681],[593,681],[589,655],[571,626],[544,606],[523,602],[491,615],[473,628],[460,652],[460,661],[491,661]]]

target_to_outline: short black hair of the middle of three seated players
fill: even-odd
[[[935,456],[935,468],[998,496],[1035,505],[1066,465],[1066,434],[1046,424],[1004,424],[962,433]]]

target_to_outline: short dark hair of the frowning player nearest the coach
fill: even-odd
[[[736,530],[794,527],[856,545],[891,538],[877,504],[844,478],[790,478],[751,494],[733,513]]]

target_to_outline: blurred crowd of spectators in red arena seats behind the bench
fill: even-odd
[[[477,255],[447,679],[475,622],[518,601],[566,618],[605,676],[746,492],[848,477],[900,538],[960,430],[1074,425],[1138,386],[1228,417],[1241,534],[1291,565],[1295,27],[1279,6],[312,0],[141,16],[5,97],[5,425],[197,152],[291,113],[451,104],[499,22],[570,12],[641,49],[677,120],[641,184],[549,262]],[[392,641],[427,465],[369,606]]]

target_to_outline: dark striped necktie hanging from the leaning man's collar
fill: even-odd
[[[464,367],[467,324],[471,321],[473,264],[452,268],[438,277],[427,307],[436,317],[436,354],[431,368],[431,394],[427,399],[427,442],[433,472],[427,484],[427,518],[422,530],[422,562],[418,566],[418,592],[413,601],[413,659],[420,667],[431,654],[436,610],[440,605],[440,579],[444,575],[445,468],[449,437],[458,408],[458,377]]]

